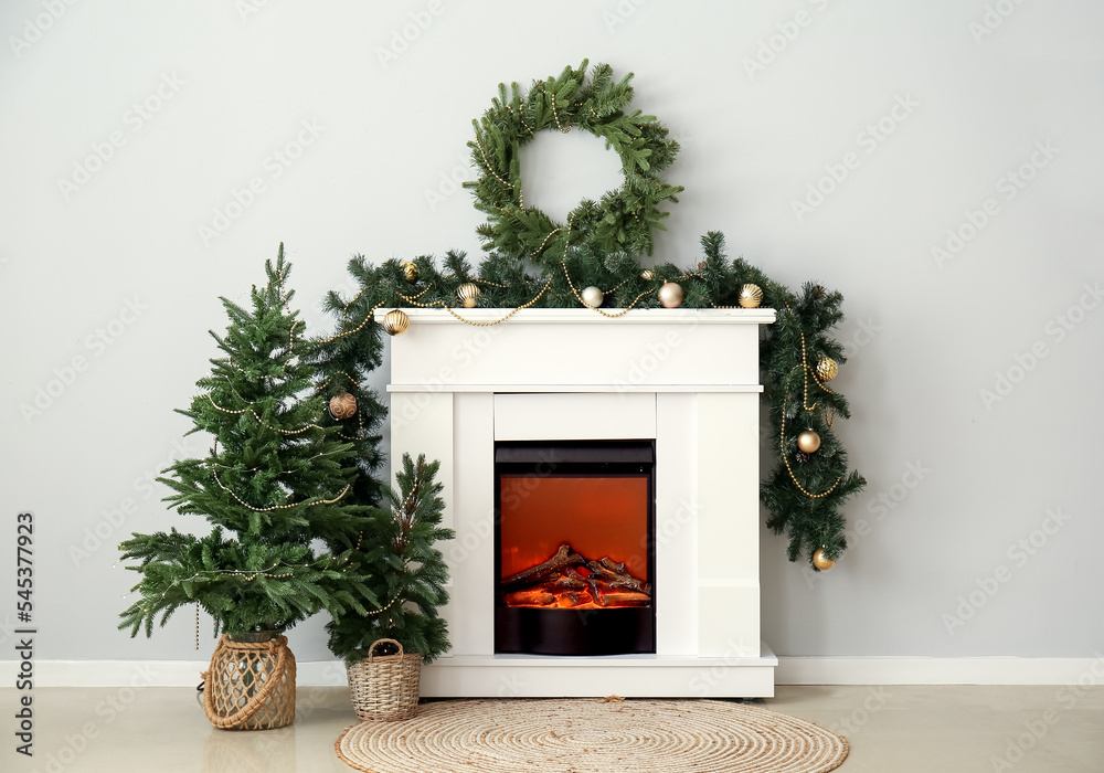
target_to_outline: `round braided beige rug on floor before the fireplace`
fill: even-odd
[[[335,744],[367,773],[827,773],[847,739],[716,700],[463,700],[362,722]]]

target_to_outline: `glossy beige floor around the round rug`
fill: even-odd
[[[263,732],[214,729],[189,688],[39,688],[33,759],[14,751],[18,697],[0,689],[3,773],[351,770],[333,754],[355,721],[344,688],[300,686],[295,724]],[[784,686],[756,703],[847,735],[841,773],[1104,773],[1104,687]]]

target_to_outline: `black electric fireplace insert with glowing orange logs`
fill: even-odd
[[[655,442],[495,445],[495,652],[656,652]]]

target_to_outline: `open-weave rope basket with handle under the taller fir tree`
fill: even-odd
[[[203,674],[203,712],[223,730],[270,730],[295,720],[295,656],[286,636],[219,639]]]

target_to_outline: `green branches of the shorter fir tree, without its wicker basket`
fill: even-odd
[[[326,627],[330,650],[349,663],[368,656],[380,638],[393,638],[404,650],[417,653],[425,663],[448,649],[448,626],[437,607],[448,602],[445,583],[448,566],[438,540],[450,540],[452,529],[440,526],[445,502],[440,484],[434,480],[439,462],[427,463],[421,455],[412,462],[403,455],[403,469],[395,477],[400,493],[388,490],[393,513],[374,511],[358,558],[381,571],[372,590],[382,608],[361,615],[336,615]],[[385,652],[383,647],[378,650]]]

